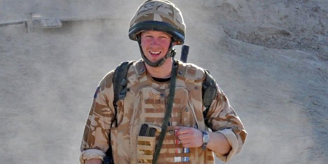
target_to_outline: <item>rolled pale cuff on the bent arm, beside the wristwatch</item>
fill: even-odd
[[[232,132],[231,129],[223,129],[223,130],[220,130],[220,131],[217,131],[217,132],[223,134],[228,139],[228,142],[231,146],[231,151],[228,154],[225,154],[225,155],[218,154],[218,153],[215,153],[215,152],[214,153],[223,162],[228,162],[229,160],[231,160],[231,158],[235,154],[237,154],[238,139],[236,137],[236,134],[234,132]]]

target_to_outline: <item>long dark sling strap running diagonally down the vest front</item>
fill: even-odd
[[[162,131],[159,133],[158,136],[158,141],[155,149],[155,154],[154,154],[154,159],[153,159],[153,164],[156,163],[160,149],[163,144],[163,140],[165,138],[166,130],[168,129],[171,113],[172,113],[172,107],[173,107],[173,100],[174,100],[174,91],[175,91],[175,81],[176,81],[176,70],[177,70],[177,65],[176,62],[173,60],[172,64],[172,70],[171,70],[171,81],[170,81],[170,92],[169,92],[169,98],[168,98],[168,103],[167,103],[167,109],[165,111],[165,116],[162,124]]]

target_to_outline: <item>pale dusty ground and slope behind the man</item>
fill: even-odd
[[[0,27],[2,163],[78,163],[98,81],[139,58],[127,31],[141,2],[0,1],[0,23],[29,13],[106,17],[30,33]],[[174,2],[189,62],[210,70],[249,133],[229,163],[326,163],[328,2]]]

